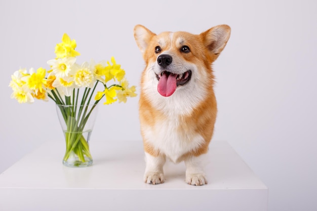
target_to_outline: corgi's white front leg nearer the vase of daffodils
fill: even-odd
[[[152,156],[145,152],[145,174],[144,182],[148,184],[160,184],[164,182],[163,166],[166,158],[164,155]]]

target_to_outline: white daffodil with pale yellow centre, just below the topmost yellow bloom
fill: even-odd
[[[51,66],[52,72],[56,77],[67,77],[71,74],[71,66],[76,62],[75,57],[65,57],[49,60],[47,63]]]

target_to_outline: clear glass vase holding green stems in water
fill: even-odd
[[[66,142],[63,164],[68,167],[92,165],[89,141],[97,116],[97,104],[76,106],[57,104],[56,110]]]

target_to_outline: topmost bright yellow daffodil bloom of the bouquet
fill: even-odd
[[[76,57],[81,54],[75,51],[76,41],[70,40],[69,36],[64,33],[62,37],[62,43],[59,43],[55,47],[55,54],[57,58],[64,57]]]

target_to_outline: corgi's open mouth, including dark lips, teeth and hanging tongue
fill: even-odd
[[[168,71],[163,71],[161,74],[156,74],[157,91],[164,97],[173,95],[177,86],[185,85],[191,78],[191,70],[182,74],[175,74]]]

